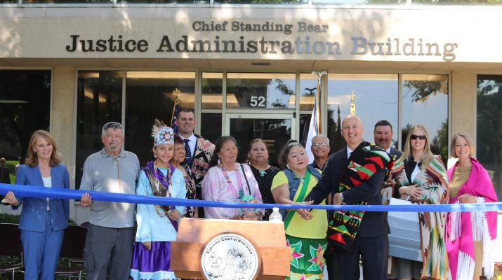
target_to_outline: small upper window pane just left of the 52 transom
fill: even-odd
[[[223,73],[202,73],[202,109],[221,109]]]

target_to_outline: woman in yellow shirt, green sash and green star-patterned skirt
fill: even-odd
[[[289,141],[279,155],[279,164],[286,169],[272,181],[272,195],[279,204],[303,204],[305,196],[315,187],[321,171],[308,166],[305,148],[298,141]],[[326,201],[320,203],[326,204]],[[312,210],[313,218],[305,220],[296,211],[282,211],[286,245],[291,247],[290,275],[286,279],[322,279],[326,250],[326,210]]]

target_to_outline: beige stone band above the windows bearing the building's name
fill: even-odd
[[[451,59],[454,62],[502,62],[502,52],[498,51],[502,37],[493,36],[493,28],[502,26],[500,13],[498,7],[6,7],[0,10],[0,58],[327,59],[374,62],[444,62]],[[202,31],[197,22],[209,24],[213,30]],[[291,29],[289,32],[245,29],[248,24],[263,25],[266,22],[283,27],[291,25]],[[219,31],[217,25],[220,25]],[[232,27],[236,29],[232,30]],[[135,41],[134,44],[144,40],[148,48],[143,52],[117,52],[103,47],[100,51],[82,52],[79,47],[72,52],[66,48],[72,44],[72,35],[79,35],[79,40],[92,40],[94,48],[98,40],[108,45],[105,41],[111,36],[114,40],[121,36],[124,44],[128,40]],[[167,48],[157,51],[164,36],[169,37],[172,48],[175,48],[172,52],[166,52]],[[176,51],[176,43],[183,40],[183,36],[187,37],[190,51]],[[260,46],[262,39],[267,50]],[[258,45],[254,52],[192,52],[192,40],[208,40],[213,44],[213,50],[216,48],[215,40],[231,40],[236,45],[242,40],[244,49],[247,49],[249,41],[258,42],[255,43]],[[270,41],[280,43],[272,50]],[[285,41],[292,44],[291,53],[281,50]],[[301,47],[296,41],[301,42]],[[309,48],[306,41],[310,42]],[[315,42],[319,43],[315,45]],[[339,50],[330,48],[328,43],[338,43]],[[381,44],[382,53],[372,54],[371,43],[376,44],[376,52],[378,44]],[[437,55],[432,55],[435,49],[428,51],[428,43],[437,43]],[[355,47],[359,44],[360,47]],[[298,51],[300,48],[303,50]],[[328,49],[333,53],[329,53]]]

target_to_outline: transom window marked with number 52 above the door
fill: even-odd
[[[228,73],[227,108],[294,109],[295,74]]]

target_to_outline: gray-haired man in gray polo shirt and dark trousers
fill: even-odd
[[[81,190],[136,194],[140,173],[138,157],[122,151],[124,130],[120,123],[106,123],[101,141],[105,146],[84,163]],[[81,206],[91,206],[84,262],[87,279],[127,280],[131,270],[136,204],[92,201],[85,193]]]

